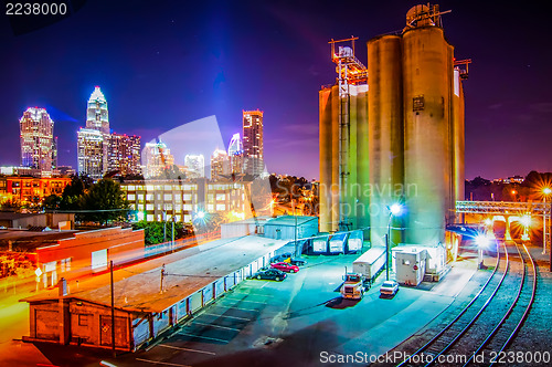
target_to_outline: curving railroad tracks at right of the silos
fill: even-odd
[[[516,337],[534,300],[537,270],[524,245],[503,245],[493,272],[474,298],[434,337],[399,366],[490,366]],[[519,262],[510,258],[518,258]],[[498,270],[500,264],[503,270]],[[505,282],[505,280],[507,280]]]

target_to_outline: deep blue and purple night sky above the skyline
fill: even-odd
[[[55,122],[60,165],[76,167],[76,132],[99,85],[113,130],[142,143],[214,115],[227,145],[241,132],[242,109],[259,108],[268,171],[318,178],[318,91],[336,77],[328,41],[359,36],[365,64],[365,41],[403,29],[416,3],[94,0],[22,35],[2,9],[0,165],[19,165],[19,118],[39,106]],[[438,3],[453,10],[443,23],[455,56],[473,59],[464,83],[466,178],[552,171],[545,10]]]

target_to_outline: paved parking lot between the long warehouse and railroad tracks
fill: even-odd
[[[450,294],[407,287],[392,298],[380,298],[385,272],[362,301],[342,300],[341,276],[355,258],[309,256],[306,266],[283,282],[246,280],[149,350],[113,363],[272,366],[282,365],[277,360],[285,356],[290,366],[318,366],[322,353],[384,353],[454,300]]]

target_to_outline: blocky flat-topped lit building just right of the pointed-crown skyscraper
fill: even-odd
[[[139,175],[140,137],[136,135],[109,135],[107,170],[118,170],[121,176]]]

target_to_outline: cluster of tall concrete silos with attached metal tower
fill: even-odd
[[[320,231],[365,229],[373,245],[436,245],[464,199],[464,92],[438,6],[416,6],[401,34],[330,41],[336,85],[320,98]],[[336,46],[350,42],[351,46]],[[349,44],[349,43],[348,43]],[[389,208],[400,202],[402,217]]]

